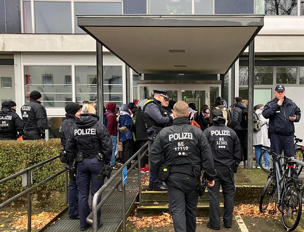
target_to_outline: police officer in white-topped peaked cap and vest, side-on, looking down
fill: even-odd
[[[167,91],[153,90],[154,97],[151,97],[143,107],[143,119],[146,125],[147,134],[149,138],[155,138],[157,133],[165,127],[166,124],[172,122],[172,116],[163,115],[164,112],[161,104],[168,99]],[[153,141],[150,143],[152,145]],[[153,170],[149,170],[149,190],[153,191],[167,191],[167,187],[157,178]]]

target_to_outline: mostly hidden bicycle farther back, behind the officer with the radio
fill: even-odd
[[[298,145],[299,142],[302,142],[303,140],[300,139],[300,138],[296,138],[295,136],[295,159],[298,159],[300,161],[303,161],[304,162],[304,146],[302,145]],[[264,150],[264,149],[263,149]],[[260,158],[259,158],[259,165],[261,167],[261,169],[265,172],[270,172],[270,168],[272,167],[273,165],[273,161],[272,161],[272,157],[271,155],[269,155],[269,163],[270,163],[270,168],[267,168],[265,166],[265,160],[264,160],[264,154],[265,153],[268,153],[267,149],[264,150],[262,152],[262,154],[260,155]],[[302,172],[302,169],[303,169],[303,166],[302,165],[299,165],[299,164],[296,164],[296,169],[297,169],[297,172],[298,172],[298,176],[300,175],[300,173]]]

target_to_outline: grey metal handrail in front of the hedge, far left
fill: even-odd
[[[0,204],[0,209],[6,205],[8,205],[9,203],[12,203],[14,200],[18,199],[19,197],[25,195],[27,193],[27,231],[31,232],[32,228],[31,228],[31,224],[32,224],[32,194],[31,191],[33,189],[38,188],[39,186],[43,185],[44,183],[47,183],[48,181],[54,179],[56,176],[59,176],[60,174],[65,172],[65,203],[67,204],[67,170],[63,169],[60,170],[59,172],[56,172],[54,175],[44,179],[43,181],[40,181],[39,183],[35,184],[32,186],[31,183],[31,171],[35,168],[38,168],[46,163],[49,163],[55,159],[58,159],[59,155],[56,155],[50,159],[44,160],[38,164],[35,164],[33,166],[30,166],[20,172],[17,172],[15,174],[13,174],[12,176],[8,176],[2,180],[0,180],[0,184],[6,183],[11,179],[15,179],[18,176],[21,176],[22,174],[26,173],[26,179],[27,179],[27,189],[23,190],[22,192],[16,194],[15,196],[11,197],[10,199],[6,200],[5,202],[2,202]]]

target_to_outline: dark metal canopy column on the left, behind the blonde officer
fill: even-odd
[[[102,67],[102,44],[96,41],[96,65],[97,65],[97,101],[100,121],[103,122],[103,67]]]

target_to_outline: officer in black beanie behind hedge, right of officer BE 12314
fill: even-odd
[[[29,102],[21,107],[23,119],[23,140],[37,140],[45,138],[47,125],[47,111],[41,105],[41,94],[34,90],[29,94]]]

